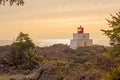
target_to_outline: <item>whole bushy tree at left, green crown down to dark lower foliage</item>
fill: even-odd
[[[37,53],[35,44],[28,34],[20,32],[11,46],[11,53],[7,56],[10,65],[16,68],[21,65],[24,69],[33,69],[38,65],[41,56]]]

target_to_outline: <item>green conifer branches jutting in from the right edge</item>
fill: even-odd
[[[111,17],[111,20],[106,19],[110,29],[102,31],[110,39],[111,54],[115,57],[120,56],[120,12],[116,13],[116,15],[111,15]]]

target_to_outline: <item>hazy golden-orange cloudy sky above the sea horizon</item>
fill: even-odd
[[[105,20],[120,10],[120,0],[25,0],[24,6],[0,5],[0,40],[13,40],[19,32],[32,39],[72,39],[82,25],[94,41],[105,42],[100,31]]]

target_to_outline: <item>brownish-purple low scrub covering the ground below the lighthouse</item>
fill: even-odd
[[[62,44],[36,47],[41,58],[39,66],[28,70],[7,65],[9,62],[5,62],[5,55],[9,54],[11,46],[2,46],[0,75],[23,74],[26,75],[23,80],[100,80],[106,72],[120,64],[119,59],[110,58],[108,49],[98,45],[76,50]]]

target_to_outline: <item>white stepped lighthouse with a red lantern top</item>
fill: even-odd
[[[73,39],[70,43],[70,48],[77,49],[78,47],[92,46],[93,40],[89,39],[89,33],[84,33],[84,28],[80,25],[77,28],[77,33],[73,33]]]

